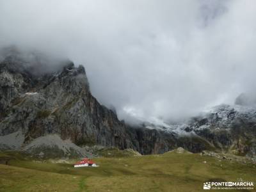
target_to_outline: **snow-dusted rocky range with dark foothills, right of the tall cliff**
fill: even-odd
[[[190,152],[211,150],[253,158],[256,154],[254,106],[223,104],[178,125],[146,124],[129,130],[134,145],[142,154],[164,153],[177,147]]]

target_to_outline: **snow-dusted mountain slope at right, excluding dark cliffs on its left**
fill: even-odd
[[[236,100],[246,105],[221,104],[179,124],[144,123],[143,127],[174,134],[179,142],[184,140],[180,145],[191,151],[207,148],[223,153],[255,157],[256,108],[249,107],[246,100],[241,100],[240,95]],[[197,148],[189,148],[189,143],[196,144]]]

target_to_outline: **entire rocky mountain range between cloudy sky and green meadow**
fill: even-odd
[[[89,156],[97,148],[163,154],[183,147],[256,154],[256,113],[218,106],[183,124],[127,125],[92,96],[82,65],[9,54],[0,63],[0,148],[36,156]]]

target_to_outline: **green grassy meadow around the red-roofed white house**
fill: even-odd
[[[256,183],[255,164],[200,154],[97,157],[97,168],[7,156],[12,160],[0,164],[0,191],[204,191],[203,183],[212,180]]]

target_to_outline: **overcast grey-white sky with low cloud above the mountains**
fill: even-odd
[[[0,1],[0,45],[68,57],[120,118],[179,118],[256,82],[256,1]]]

